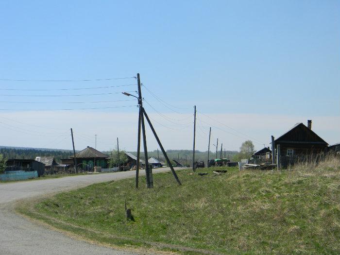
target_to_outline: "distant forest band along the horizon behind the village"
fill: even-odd
[[[102,152],[106,155],[110,155],[110,152],[105,151]],[[134,155],[137,155],[136,152],[131,152]],[[220,157],[220,153],[218,152],[218,156]],[[60,163],[60,159],[62,158],[68,158],[70,155],[73,154],[72,151],[67,151],[67,150],[44,150],[44,149],[22,149],[22,148],[0,148],[0,154],[4,155],[7,159],[10,158],[17,158],[17,159],[35,159],[35,157],[38,156],[53,156],[55,160]],[[183,165],[189,165],[192,166],[192,150],[168,150],[167,154],[170,158],[170,160],[178,160],[181,164]],[[225,151],[225,157],[230,160],[233,159],[233,156],[238,154],[237,151]],[[157,150],[154,150],[152,152],[148,152],[148,157],[154,157],[158,159],[157,155]],[[204,162],[207,160],[208,157],[208,151],[205,152],[200,152],[200,151],[195,151],[195,161],[201,161],[203,160]],[[209,158],[214,159],[216,157],[216,151],[215,152],[210,152]],[[224,158],[224,151],[222,152],[222,157]],[[140,158],[142,160],[145,160],[144,153],[140,153]],[[161,162],[165,162],[165,158],[163,156],[163,153],[159,151],[159,159]]]

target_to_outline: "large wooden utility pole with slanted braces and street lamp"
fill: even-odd
[[[152,169],[149,167],[149,162],[148,162],[148,148],[146,145],[146,134],[145,134],[145,123],[144,123],[144,117],[146,118],[146,120],[149,123],[149,126],[153,132],[154,137],[157,140],[157,143],[164,155],[164,157],[167,160],[168,165],[170,166],[171,172],[173,174],[173,176],[175,177],[176,181],[178,182],[179,185],[181,185],[181,182],[178,179],[178,176],[175,172],[175,170],[173,169],[170,159],[167,155],[167,153],[165,152],[162,143],[160,142],[156,131],[153,128],[153,125],[145,111],[145,109],[143,108],[143,103],[142,103],[142,93],[141,93],[141,89],[140,89],[140,78],[139,78],[139,73],[137,73],[137,85],[138,85],[138,97],[131,95],[127,92],[123,92],[122,94],[124,94],[125,96],[133,96],[135,98],[138,99],[138,105],[139,105],[139,115],[138,115],[138,141],[137,141],[137,162],[136,162],[136,188],[138,187],[138,174],[139,174],[139,158],[140,158],[140,126],[142,129],[142,133],[143,133],[143,146],[144,146],[144,154],[145,154],[145,173],[146,173],[146,183],[147,183],[147,187],[148,188],[153,188],[153,174],[152,174]]]

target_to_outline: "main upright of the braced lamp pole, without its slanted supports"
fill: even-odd
[[[138,85],[138,104],[139,104],[139,111],[140,111],[140,120],[141,120],[141,124],[142,124],[143,147],[144,147],[144,155],[145,155],[146,186],[148,188],[153,188],[153,172],[152,172],[152,169],[149,168],[149,162],[148,162],[148,148],[147,148],[147,145],[146,145],[144,111],[143,111],[143,103],[142,103],[142,92],[141,92],[141,89],[140,89],[139,73],[137,73],[137,85]],[[139,156],[138,156],[138,158],[139,158]]]

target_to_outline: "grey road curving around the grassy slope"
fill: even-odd
[[[154,169],[153,173],[169,171]],[[145,172],[142,171],[141,175]],[[93,183],[135,176],[135,171],[69,176],[0,184],[0,254],[6,255],[135,255],[145,252],[115,250],[68,236],[35,224],[13,210],[20,200],[85,187]],[[142,185],[142,184],[141,184]]]

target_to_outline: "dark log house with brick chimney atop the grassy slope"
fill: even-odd
[[[311,129],[312,121],[308,125],[295,124],[288,132],[274,141],[274,146],[280,145],[281,156],[306,156],[325,153],[328,143]]]

